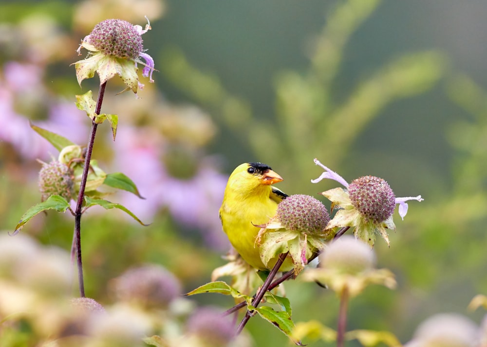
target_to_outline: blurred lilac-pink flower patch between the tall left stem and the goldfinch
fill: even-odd
[[[120,128],[114,149],[116,168],[112,171],[128,175],[146,198],[123,194],[119,200],[122,205],[146,223],[155,213],[168,208],[175,220],[201,230],[209,246],[228,249],[218,217],[227,178],[216,170],[214,160],[203,158],[198,172],[190,179],[172,177],[161,161],[164,143],[160,135],[147,128]]]

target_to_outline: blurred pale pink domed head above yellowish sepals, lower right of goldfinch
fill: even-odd
[[[335,269],[350,275],[370,270],[375,266],[375,255],[370,247],[349,235],[330,243],[319,256],[319,260],[325,269]]]

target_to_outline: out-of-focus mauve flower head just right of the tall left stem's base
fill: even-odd
[[[115,295],[147,307],[167,307],[181,292],[177,278],[159,265],[146,265],[126,271],[113,280]]]

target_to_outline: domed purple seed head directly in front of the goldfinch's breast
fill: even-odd
[[[326,207],[310,195],[296,194],[282,200],[277,217],[288,230],[321,234],[330,221]]]

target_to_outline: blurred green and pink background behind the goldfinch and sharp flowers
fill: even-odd
[[[317,196],[336,186],[310,183],[317,157],[349,182],[376,175],[396,196],[425,199],[410,203],[404,222],[396,213],[390,248],[375,245],[398,288],[352,300],[348,328],[389,330],[404,343],[433,313],[479,323],[484,312],[467,305],[487,294],[486,14],[482,0],[2,1],[0,228],[13,230],[39,201],[35,159],[57,155],[28,120],[88,139],[74,95],[96,93],[97,78],[76,83],[69,64],[82,58],[80,39],[103,19],[144,26],[148,16],[155,84],[141,78],[135,99],[109,83],[102,111],[119,115],[119,134],[113,143],[104,124],[94,157],[139,186],[146,200],[112,200],[151,225],[112,210],[83,216],[87,296],[111,302],[110,278],[145,262],[167,267],[186,291],[206,283],[224,263],[218,208],[233,168],[262,161],[283,191]],[[69,250],[72,230],[70,215],[48,213],[21,232]],[[299,280],[286,290],[295,321],[336,327],[333,293]],[[194,300],[232,306],[218,295]],[[248,330],[256,346],[286,343],[257,317]]]

